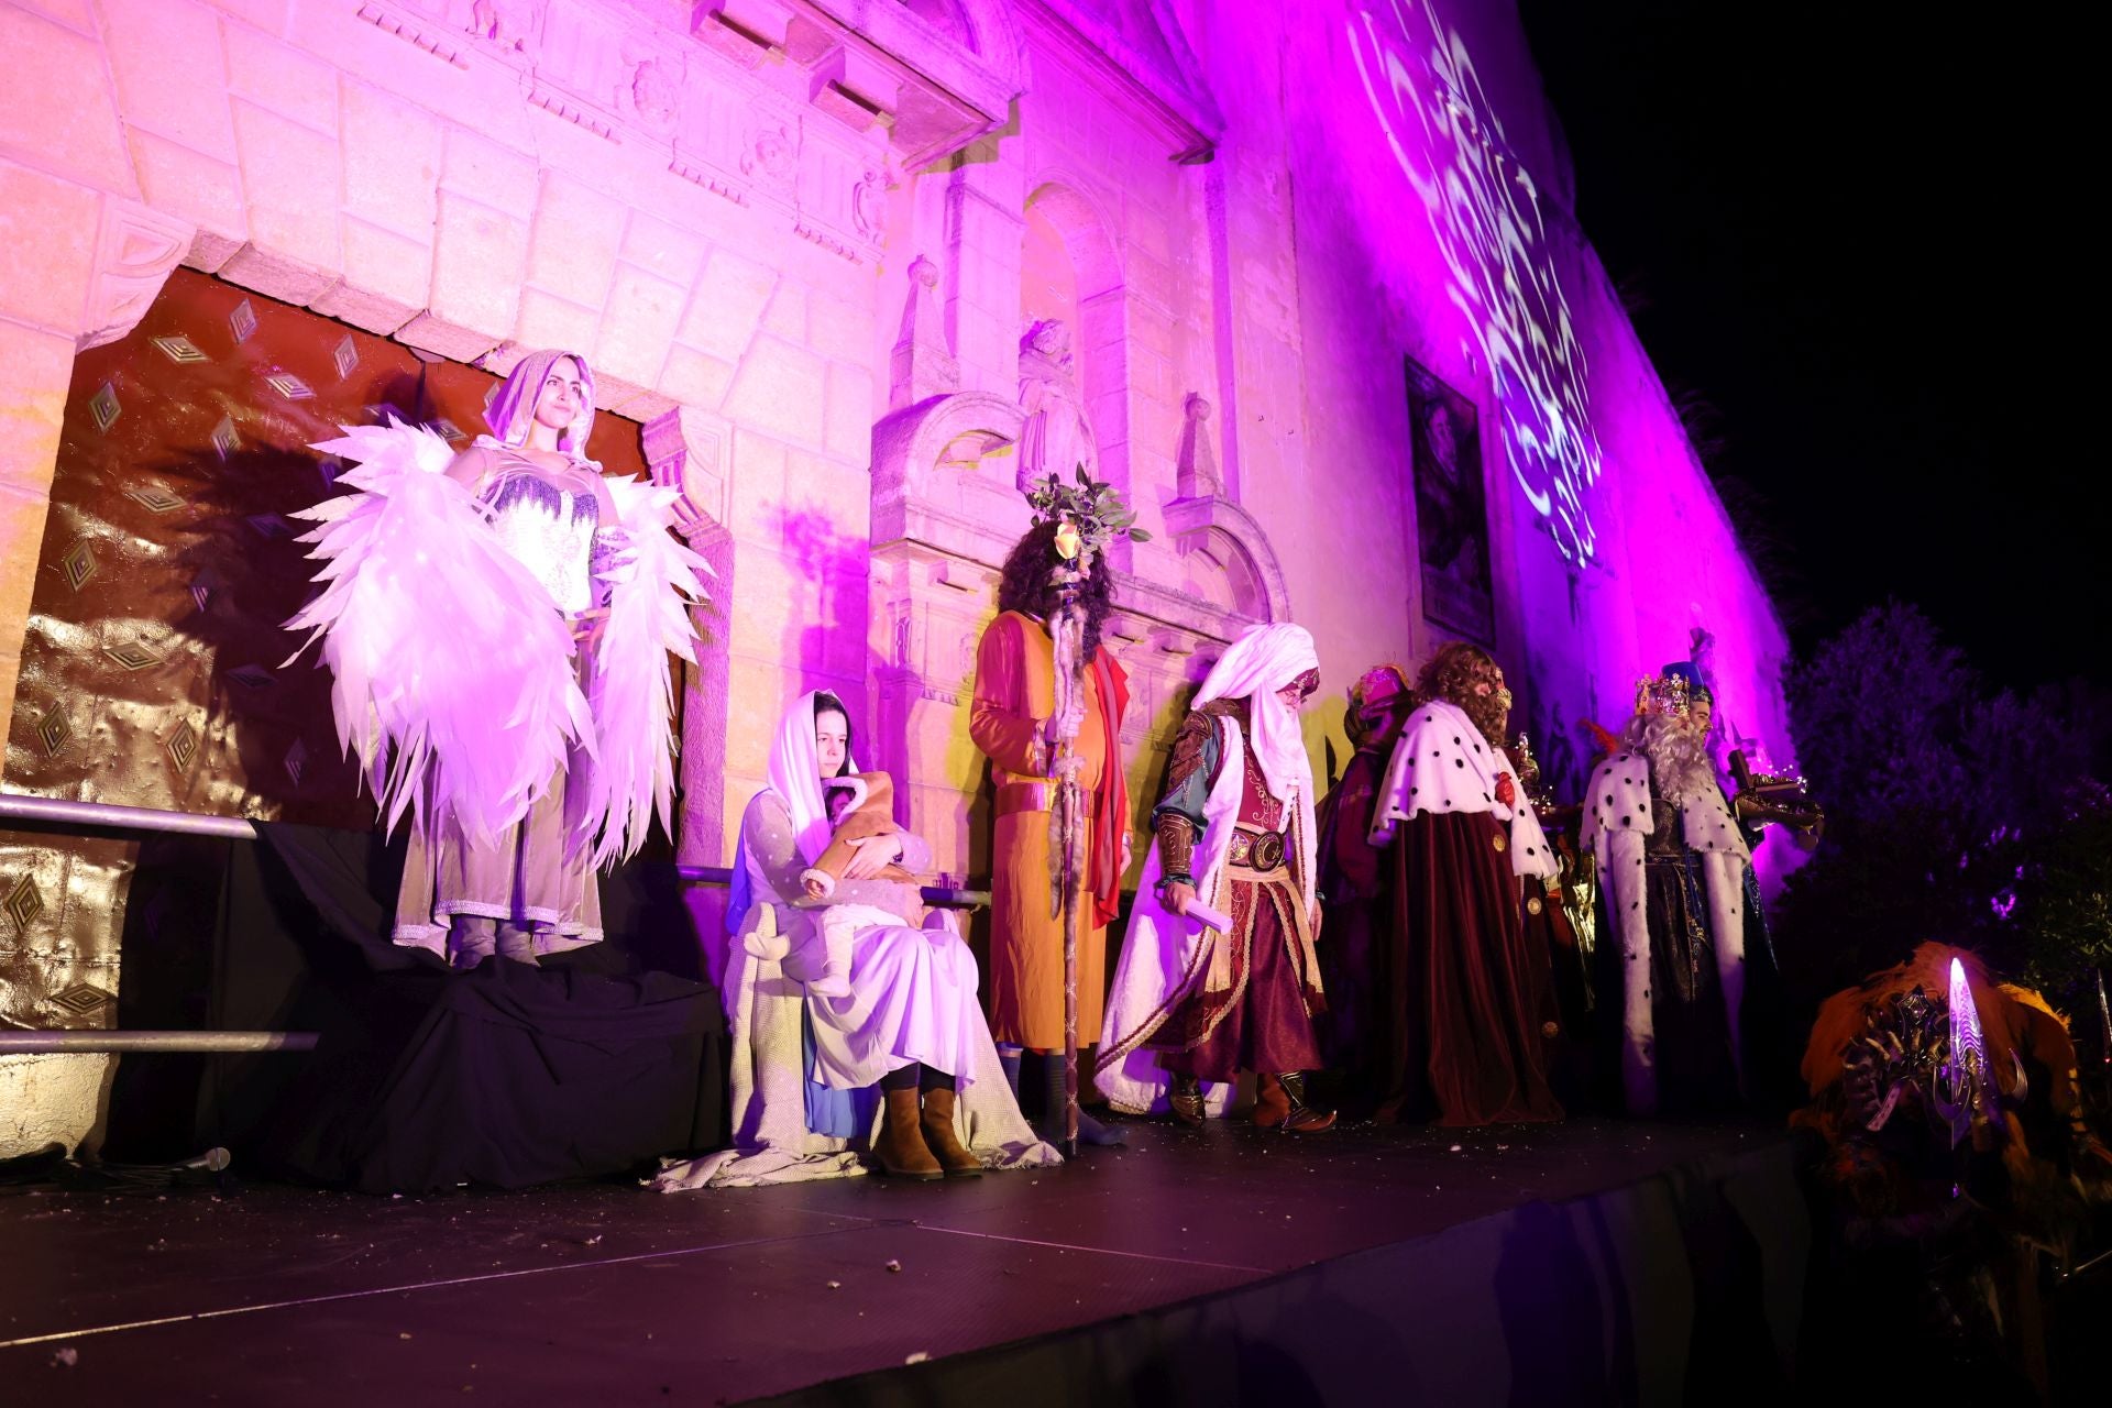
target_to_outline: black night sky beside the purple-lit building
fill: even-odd
[[[1799,650],[1897,595],[2000,684],[2112,682],[2080,36],[1842,0],[1519,8],[1578,220],[1675,399],[1713,407],[1726,498],[1764,500]]]

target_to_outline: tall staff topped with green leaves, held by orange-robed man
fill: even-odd
[[[1050,916],[1062,918],[1062,1153],[1071,1159],[1077,1155],[1077,903],[1086,872],[1086,806],[1077,781],[1077,732],[1086,724],[1086,608],[1079,591],[1096,568],[1105,570],[1102,549],[1109,543],[1147,543],[1151,534],[1134,526],[1136,511],[1121,502],[1115,486],[1094,479],[1083,464],[1075,486],[1052,473],[1026,490],[1026,502],[1037,526],[1056,524],[1056,557],[1050,564],[1056,597],[1050,612],[1056,657],[1056,726],[1048,760],[1048,777],[1056,779],[1050,800]],[[1119,766],[1119,760],[1109,766]]]

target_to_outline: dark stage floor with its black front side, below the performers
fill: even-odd
[[[948,1184],[17,1188],[0,1404],[1677,1402],[1643,1343],[1721,1359],[1723,1294],[1726,1370],[1793,1353],[1774,1125],[1126,1127]]]

